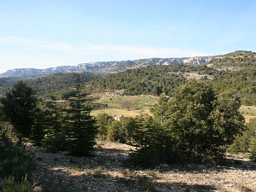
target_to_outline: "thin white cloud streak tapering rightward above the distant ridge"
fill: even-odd
[[[81,55],[105,55],[131,56],[132,58],[145,57],[182,57],[206,55],[206,53],[191,49],[155,48],[145,46],[131,46],[119,44],[69,44],[66,42],[44,41],[33,38],[3,37],[0,38],[0,46],[22,46],[23,49],[49,49],[63,52],[73,52]],[[125,56],[126,55],[126,56]]]

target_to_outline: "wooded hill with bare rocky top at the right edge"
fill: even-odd
[[[212,84],[219,92],[231,90],[240,96],[243,104],[256,104],[256,53],[236,51],[208,62],[218,73]]]

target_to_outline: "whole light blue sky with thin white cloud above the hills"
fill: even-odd
[[[0,0],[0,73],[256,52],[255,0]]]

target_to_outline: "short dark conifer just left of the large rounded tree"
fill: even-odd
[[[166,157],[170,154],[166,148],[166,132],[162,126],[151,116],[141,114],[137,116],[137,125],[134,129],[133,143],[137,151],[131,154],[131,163],[136,166],[156,166],[167,162]]]

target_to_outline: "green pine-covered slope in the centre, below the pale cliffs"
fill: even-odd
[[[125,90],[125,95],[154,95],[161,93],[171,95],[178,85],[183,84],[191,74],[196,77],[212,77],[217,73],[212,67],[207,66],[152,66],[126,70],[114,73],[88,82],[91,87],[101,90]]]

